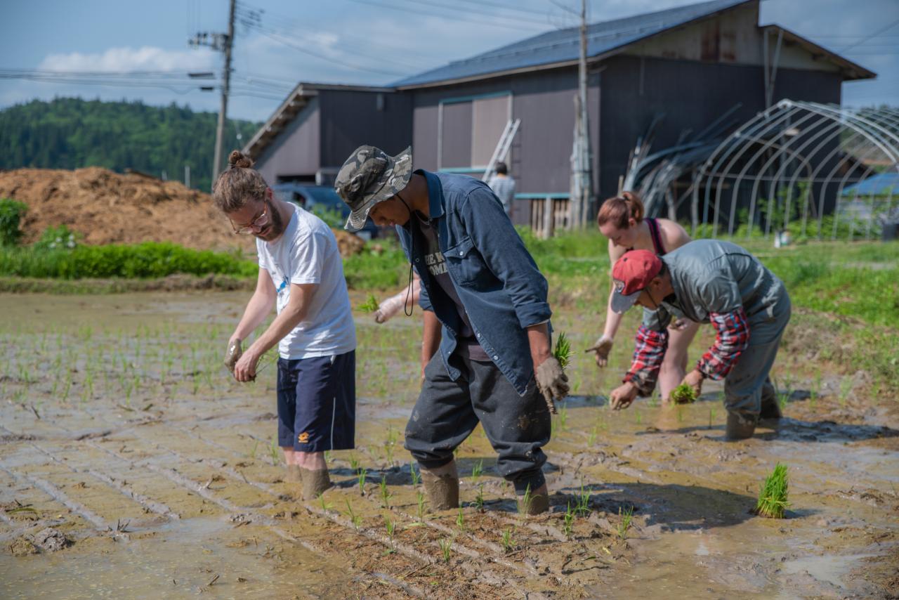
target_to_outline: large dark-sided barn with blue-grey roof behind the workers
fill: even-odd
[[[700,134],[725,112],[747,121],[781,98],[840,103],[844,81],[875,76],[778,25],[759,0],[713,0],[592,24],[587,30],[594,190],[618,192],[647,125],[654,148]],[[300,84],[245,148],[271,182],[328,182],[353,148],[413,147],[414,165],[480,176],[506,123],[521,119],[507,163],[514,219],[530,201],[568,196],[577,28],[549,31],[387,87]],[[550,200],[552,201],[552,200]]]

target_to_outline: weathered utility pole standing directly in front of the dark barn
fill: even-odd
[[[590,126],[587,103],[587,0],[581,0],[581,56],[578,61],[578,89],[574,96],[574,148],[569,226],[583,228],[592,196]]]

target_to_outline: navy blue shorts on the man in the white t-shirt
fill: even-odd
[[[278,359],[278,445],[350,450],[356,433],[356,351]]]

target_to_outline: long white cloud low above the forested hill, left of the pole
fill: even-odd
[[[93,54],[50,54],[38,68],[48,71],[183,71],[216,67],[218,60],[218,53],[206,48],[169,50],[144,46],[110,48]]]

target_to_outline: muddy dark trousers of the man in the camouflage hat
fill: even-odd
[[[424,368],[422,393],[405,425],[405,449],[425,469],[442,467],[480,421],[499,454],[497,470],[516,494],[540,488],[546,482],[541,447],[549,442],[550,416],[534,380],[521,397],[494,363],[458,354],[451,360],[462,372],[457,381],[449,379],[440,353]]]

